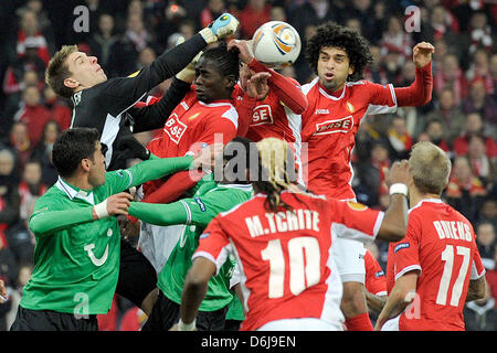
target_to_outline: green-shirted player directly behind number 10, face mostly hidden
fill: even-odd
[[[252,197],[253,190],[245,170],[236,170],[235,165],[248,165],[250,142],[251,140],[240,137],[230,141],[224,149],[223,180],[219,183],[203,183],[193,197],[170,204],[131,202],[129,207],[131,216],[150,224],[184,225],[176,247],[159,274],[159,297],[142,331],[169,330],[178,322],[184,278],[191,267],[191,256],[199,245],[199,236],[219,213],[229,211]],[[228,156],[226,151],[236,153]],[[228,306],[233,301],[230,289],[236,284],[236,280],[231,280],[230,284],[234,266],[234,259],[226,261],[220,274],[209,281],[205,299],[197,318],[199,330],[224,329]]]

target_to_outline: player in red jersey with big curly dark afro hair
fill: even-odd
[[[308,41],[306,58],[318,75],[304,85],[308,107],[303,114],[303,143],[307,142],[307,186],[316,194],[355,200],[351,156],[361,119],[367,115],[395,111],[396,107],[422,106],[432,96],[433,45],[413,49],[414,83],[394,88],[361,81],[371,62],[368,42],[356,31],[327,22]],[[343,281],[341,309],[348,330],[372,330],[364,299],[362,245],[348,239],[335,244],[338,270]]]

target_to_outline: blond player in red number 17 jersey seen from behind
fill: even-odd
[[[409,199],[414,206],[405,238],[390,244],[390,291],[376,330],[464,330],[464,304],[483,298],[486,286],[475,233],[461,213],[440,199],[451,173],[445,152],[431,142],[419,142],[409,167]]]

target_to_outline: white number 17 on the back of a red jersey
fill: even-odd
[[[470,250],[465,246],[456,246],[457,255],[463,256],[463,264],[459,268],[459,274],[452,288],[451,306],[458,307],[461,295],[463,292],[464,279],[466,278],[469,267]],[[454,246],[447,245],[442,253],[442,260],[445,261],[444,272],[440,280],[438,295],[436,296],[436,303],[445,306],[447,302],[448,286],[451,285],[452,272],[454,269]]]

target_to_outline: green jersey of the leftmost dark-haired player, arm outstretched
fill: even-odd
[[[34,268],[20,306],[76,315],[107,313],[119,275],[120,231],[114,216],[93,221],[93,206],[130,186],[188,170],[192,160],[152,156],[106,173],[104,185],[87,191],[59,178],[30,217]]]

